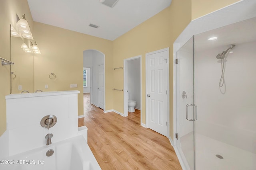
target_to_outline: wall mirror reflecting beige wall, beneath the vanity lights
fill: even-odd
[[[10,26],[11,40],[11,61],[14,62],[11,66],[11,94],[17,94],[24,91],[29,93],[34,92],[34,55],[26,53],[22,48],[22,44],[30,43],[28,39],[13,35],[12,26]]]

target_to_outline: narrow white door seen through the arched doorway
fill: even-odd
[[[98,99],[99,107],[104,109],[104,64],[98,66],[99,80],[98,80]]]

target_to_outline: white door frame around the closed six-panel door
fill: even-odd
[[[164,48],[164,49],[160,49],[160,50],[157,50],[157,51],[152,51],[152,52],[149,52],[149,53],[146,53],[145,55],[145,75],[146,75],[146,93],[145,93],[145,101],[146,101],[146,127],[148,128],[148,100],[147,100],[147,96],[146,94],[148,93],[148,76],[147,76],[147,57],[149,55],[152,55],[152,54],[156,54],[156,53],[161,53],[161,52],[164,52],[164,51],[167,51],[167,137],[168,139],[170,139],[170,77],[169,77],[169,47],[167,48]]]

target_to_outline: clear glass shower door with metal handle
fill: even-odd
[[[194,170],[194,36],[177,51],[177,133],[176,145],[183,166]]]

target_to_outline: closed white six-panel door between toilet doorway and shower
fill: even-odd
[[[146,54],[148,128],[167,136],[167,51]]]

